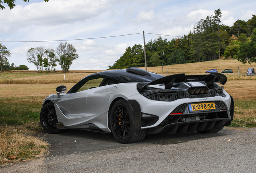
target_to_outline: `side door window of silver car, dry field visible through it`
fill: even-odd
[[[87,89],[99,87],[103,79],[103,76],[91,76],[89,78],[84,78],[83,80],[75,84],[68,93],[77,93]]]

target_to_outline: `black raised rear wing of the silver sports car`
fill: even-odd
[[[165,76],[154,80],[152,82],[141,82],[137,84],[138,89],[144,89],[149,85],[155,84],[164,84],[165,89],[171,89],[173,87],[174,82],[205,82],[207,87],[213,85],[214,82],[225,84],[227,82],[227,76],[221,73],[211,73],[211,74],[202,74],[202,75],[185,75],[185,73],[181,74],[172,74],[169,76]]]

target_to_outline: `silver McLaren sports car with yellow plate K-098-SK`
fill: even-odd
[[[57,95],[43,101],[39,125],[50,133],[113,133],[120,143],[139,142],[147,134],[214,133],[233,120],[234,101],[224,90],[226,82],[220,73],[162,76],[140,68],[98,72],[67,93],[64,85],[57,87]]]

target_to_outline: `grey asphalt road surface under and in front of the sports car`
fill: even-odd
[[[0,168],[0,173],[256,172],[256,128],[213,134],[147,135],[120,144],[111,134],[70,130],[43,134],[49,155]]]

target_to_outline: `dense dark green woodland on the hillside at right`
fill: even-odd
[[[181,38],[162,39],[145,44],[147,66],[161,66],[234,58],[241,62],[256,62],[256,15],[247,22],[238,19],[229,27],[221,23],[222,12],[207,16],[194,25],[193,31]],[[124,54],[109,69],[144,67],[144,48],[140,44],[126,48]]]

